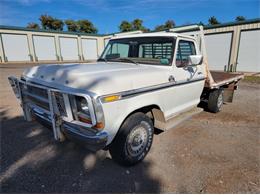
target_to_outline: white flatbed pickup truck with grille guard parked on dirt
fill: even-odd
[[[154,130],[198,113],[200,102],[218,112],[243,78],[209,71],[203,29],[196,28],[193,36],[115,36],[97,63],[39,65],[9,82],[27,121],[50,124],[56,140],[109,149],[118,163],[133,165],[150,150]]]

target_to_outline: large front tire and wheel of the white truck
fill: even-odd
[[[152,120],[138,112],[129,116],[109,147],[112,159],[125,166],[142,161],[153,142],[154,127]]]

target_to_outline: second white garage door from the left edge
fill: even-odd
[[[33,36],[37,60],[56,60],[54,37]]]

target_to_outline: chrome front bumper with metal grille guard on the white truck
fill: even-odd
[[[56,89],[25,83],[24,81],[20,81],[14,77],[9,78],[9,80],[11,80],[10,83],[14,89],[14,92],[21,101],[21,106],[27,121],[36,119],[38,122],[52,127],[54,138],[59,141],[63,141],[66,137],[83,144],[92,151],[103,149],[106,146],[108,139],[108,134],[106,131],[97,131],[89,124],[84,124],[82,122],[69,119],[68,117],[62,117],[60,113],[57,112],[57,109],[54,109],[56,105],[55,100],[53,101],[52,93],[53,91],[57,92]],[[21,90],[20,83],[23,85],[32,85],[46,89],[49,95],[50,110],[47,111],[46,109],[28,102],[23,97],[23,91]]]

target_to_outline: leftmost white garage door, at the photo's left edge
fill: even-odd
[[[26,35],[2,34],[2,40],[7,61],[30,61]]]

